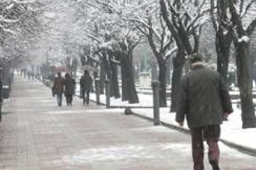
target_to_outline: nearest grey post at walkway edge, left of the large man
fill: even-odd
[[[157,80],[151,82],[153,89],[153,114],[154,125],[160,125],[160,83]]]

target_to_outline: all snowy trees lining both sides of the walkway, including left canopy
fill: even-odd
[[[175,111],[179,79],[188,71],[186,56],[207,51],[205,45],[202,46],[202,42],[209,41],[208,33],[203,31],[207,28],[215,34],[210,39],[215,39],[217,70],[225,80],[229,55],[234,47],[243,127],[255,127],[254,57],[249,55],[250,38],[256,27],[255,1],[3,1],[0,7],[6,13],[3,12],[0,18],[2,49],[8,49],[11,42],[15,48],[9,45],[12,52],[2,56],[8,54],[20,59],[15,56],[24,56],[33,43],[40,44],[51,49],[48,50],[50,57],[62,61],[68,57],[64,61],[70,67],[76,67],[79,59],[83,65],[100,68],[95,78],[100,77],[101,92],[105,80],[110,79],[112,96],[136,103],[139,98],[135,89],[133,54],[138,44],[146,42],[158,62],[161,107],[166,107],[166,63],[172,58],[171,111]],[[15,35],[17,33],[19,36]],[[70,63],[72,61],[75,63]],[[117,67],[121,68],[122,93],[119,92]]]

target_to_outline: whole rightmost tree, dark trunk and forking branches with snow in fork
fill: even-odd
[[[236,48],[237,81],[242,106],[242,127],[256,127],[254,104],[252,102],[252,68],[250,59],[250,37],[256,28],[255,0],[226,0],[231,22],[224,20],[223,26],[232,30],[234,47]]]

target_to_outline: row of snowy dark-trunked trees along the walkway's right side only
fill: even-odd
[[[83,47],[87,50],[81,57],[87,57],[100,65],[101,79],[104,81],[106,73],[107,78],[112,80],[114,96],[118,97],[114,92],[119,91],[116,65],[120,65],[122,99],[129,100],[130,103],[139,102],[134,85],[132,58],[137,44],[146,41],[158,61],[160,105],[166,107],[166,61],[173,57],[171,111],[176,110],[176,93],[186,65],[186,56],[200,51],[203,26],[211,26],[215,30],[217,70],[225,80],[231,46],[234,46],[241,94],[242,126],[256,126],[251,69],[254,58],[249,55],[250,37],[256,27],[255,0],[77,3],[86,7],[78,10],[85,12],[85,18],[76,20],[84,26],[82,31],[86,37],[86,46],[83,44]]]

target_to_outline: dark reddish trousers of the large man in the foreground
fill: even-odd
[[[203,170],[203,140],[208,144],[208,160],[218,166],[220,158],[220,149],[218,140],[220,139],[220,125],[210,125],[190,129],[192,137],[192,156],[194,161],[194,170]]]

